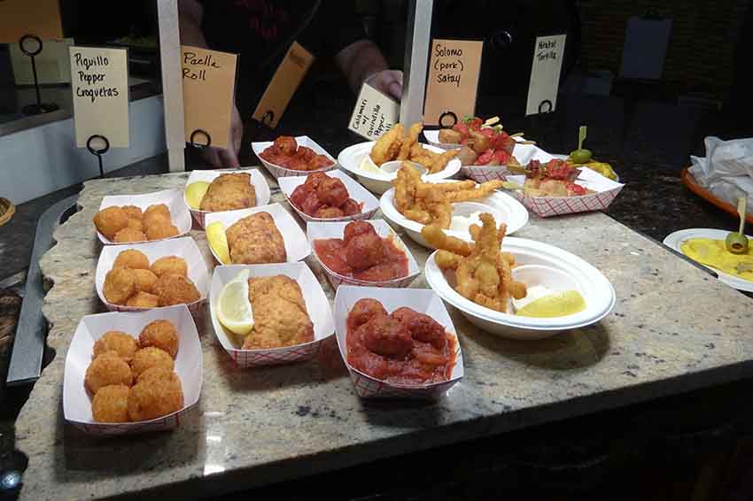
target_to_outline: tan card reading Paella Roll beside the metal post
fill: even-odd
[[[201,129],[210,136],[212,146],[228,147],[237,58],[228,52],[181,46],[186,143]],[[204,135],[197,136],[197,142],[205,141]]]

